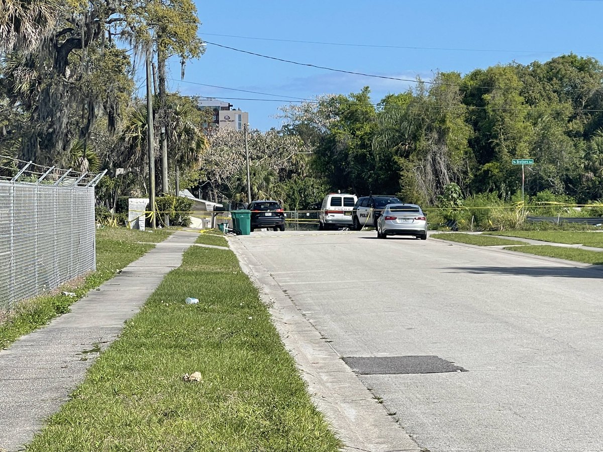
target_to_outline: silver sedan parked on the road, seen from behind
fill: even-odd
[[[377,238],[414,236],[427,240],[427,219],[417,204],[388,204],[377,221]]]

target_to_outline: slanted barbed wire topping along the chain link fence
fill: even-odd
[[[0,154],[0,182],[62,187],[95,187],[107,170],[81,172],[72,168],[43,166]]]

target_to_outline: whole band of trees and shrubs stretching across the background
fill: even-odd
[[[158,192],[189,189],[236,207],[247,200],[248,178],[251,198],[278,199],[286,210],[314,210],[338,190],[384,193],[429,209],[433,227],[455,222],[461,230],[519,228],[525,214],[603,215],[603,64],[596,58],[503,61],[463,75],[435,72],[429,83],[417,80],[382,99],[365,86],[282,105],[282,127],[247,130],[247,175],[239,154],[245,132],[208,127],[212,108],[166,86],[174,58],[183,77],[187,61],[203,58],[205,20],[194,1],[58,7],[37,0],[35,14],[31,3],[0,3],[8,11],[0,16],[2,175],[30,160],[108,169],[96,186],[101,221],[123,224],[119,199],[148,192],[148,112],[136,80],[147,46],[157,67],[153,124],[158,149],[168,154],[154,157]],[[525,203],[512,163],[522,158],[534,159]],[[172,225],[186,224],[180,202],[157,198]]]

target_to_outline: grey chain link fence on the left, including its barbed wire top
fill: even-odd
[[[0,311],[96,268],[94,186],[102,174],[0,156]]]

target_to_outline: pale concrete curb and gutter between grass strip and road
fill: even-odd
[[[245,243],[229,237],[241,269],[259,289],[285,348],[295,359],[315,406],[323,413],[344,451],[419,452],[421,448],[387,415],[382,405],[301,314],[286,291],[257,262]]]

